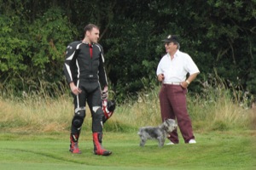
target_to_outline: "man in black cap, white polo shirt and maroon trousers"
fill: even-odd
[[[200,73],[189,54],[179,51],[178,38],[169,35],[165,40],[166,55],[160,59],[156,75],[162,82],[160,89],[160,111],[162,121],[166,118],[177,120],[177,125],[185,143],[195,144],[192,123],[187,111],[186,94],[189,84]],[[189,77],[187,77],[189,73]],[[168,138],[170,143],[178,144],[177,129]]]

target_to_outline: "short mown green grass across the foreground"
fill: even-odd
[[[87,133],[87,134],[86,134]],[[82,132],[81,155],[68,151],[68,133],[0,133],[0,169],[255,169],[254,131],[195,133],[197,144],[138,146],[134,133],[105,133],[111,156],[92,154],[91,135]],[[166,141],[167,142],[167,141]]]

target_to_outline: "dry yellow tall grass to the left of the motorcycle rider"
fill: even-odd
[[[61,99],[0,100],[1,124],[16,131],[60,131],[72,117],[72,101]]]

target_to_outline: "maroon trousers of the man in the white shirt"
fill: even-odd
[[[159,97],[162,121],[166,118],[176,119],[184,142],[189,143],[189,140],[195,139],[195,136],[187,110],[186,94],[187,89],[180,85],[162,84]],[[178,144],[177,129],[171,133],[171,137],[168,139],[174,144]]]

